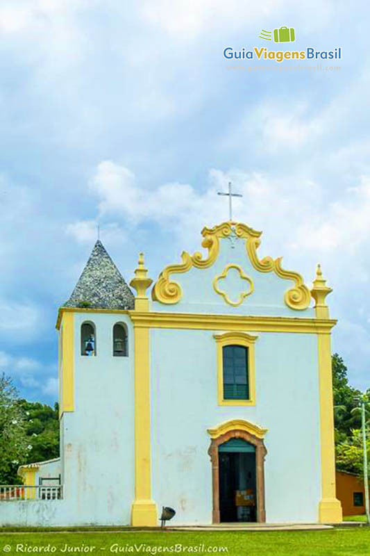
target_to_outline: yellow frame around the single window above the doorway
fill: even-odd
[[[255,341],[257,336],[243,332],[226,332],[214,334],[217,343],[217,399],[219,405],[253,406],[255,405]],[[242,345],[248,348],[248,400],[224,400],[224,361],[223,347],[225,345]]]

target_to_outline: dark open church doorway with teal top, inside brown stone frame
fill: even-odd
[[[220,521],[257,521],[255,446],[242,439],[219,445]]]

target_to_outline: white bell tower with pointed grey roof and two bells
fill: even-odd
[[[134,499],[134,295],[97,240],[60,307],[60,455],[64,498],[91,523],[130,523]],[[99,500],[99,504],[96,504]],[[84,510],[85,512],[85,510]]]

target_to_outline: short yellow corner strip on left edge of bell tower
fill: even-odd
[[[61,327],[60,416],[65,411],[74,411],[74,313],[63,314]]]

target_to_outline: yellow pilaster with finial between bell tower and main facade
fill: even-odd
[[[144,268],[144,255],[140,253],[135,278],[135,311],[149,311],[146,289],[152,283]],[[131,525],[155,527],[158,525],[157,505],[151,499],[151,391],[149,327],[134,324],[135,339],[135,500],[131,509]]]

